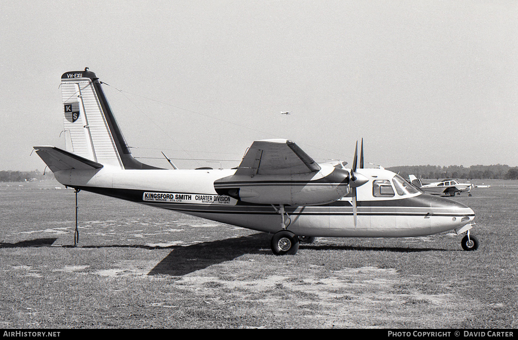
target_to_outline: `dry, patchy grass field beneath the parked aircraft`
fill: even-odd
[[[518,327],[518,181],[454,200],[461,237],[317,238],[277,257],[270,235],[80,192],[0,183],[0,328]]]

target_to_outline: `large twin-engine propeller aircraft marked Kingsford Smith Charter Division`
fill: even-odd
[[[133,158],[103,92],[88,71],[61,77],[66,151],[37,146],[63,185],[273,234],[275,254],[295,254],[315,236],[470,236],[474,212],[424,194],[393,172],[345,162],[317,164],[293,141],[254,141],[234,169],[161,169]],[[167,158],[167,157],[166,157]]]

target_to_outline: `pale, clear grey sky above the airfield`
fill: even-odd
[[[518,166],[516,1],[0,5],[0,170],[64,148],[60,78],[87,66],[133,154],[181,168],[267,138],[351,164],[362,137],[384,167]]]

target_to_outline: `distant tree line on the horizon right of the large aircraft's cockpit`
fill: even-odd
[[[518,167],[509,165],[472,165],[470,167],[450,165],[416,165],[393,166],[387,168],[401,177],[408,179],[408,175],[417,178],[459,178],[459,179],[518,179]]]

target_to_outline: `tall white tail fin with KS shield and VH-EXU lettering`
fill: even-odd
[[[133,158],[101,84],[88,67],[61,76],[66,151],[121,169],[159,169]]]

